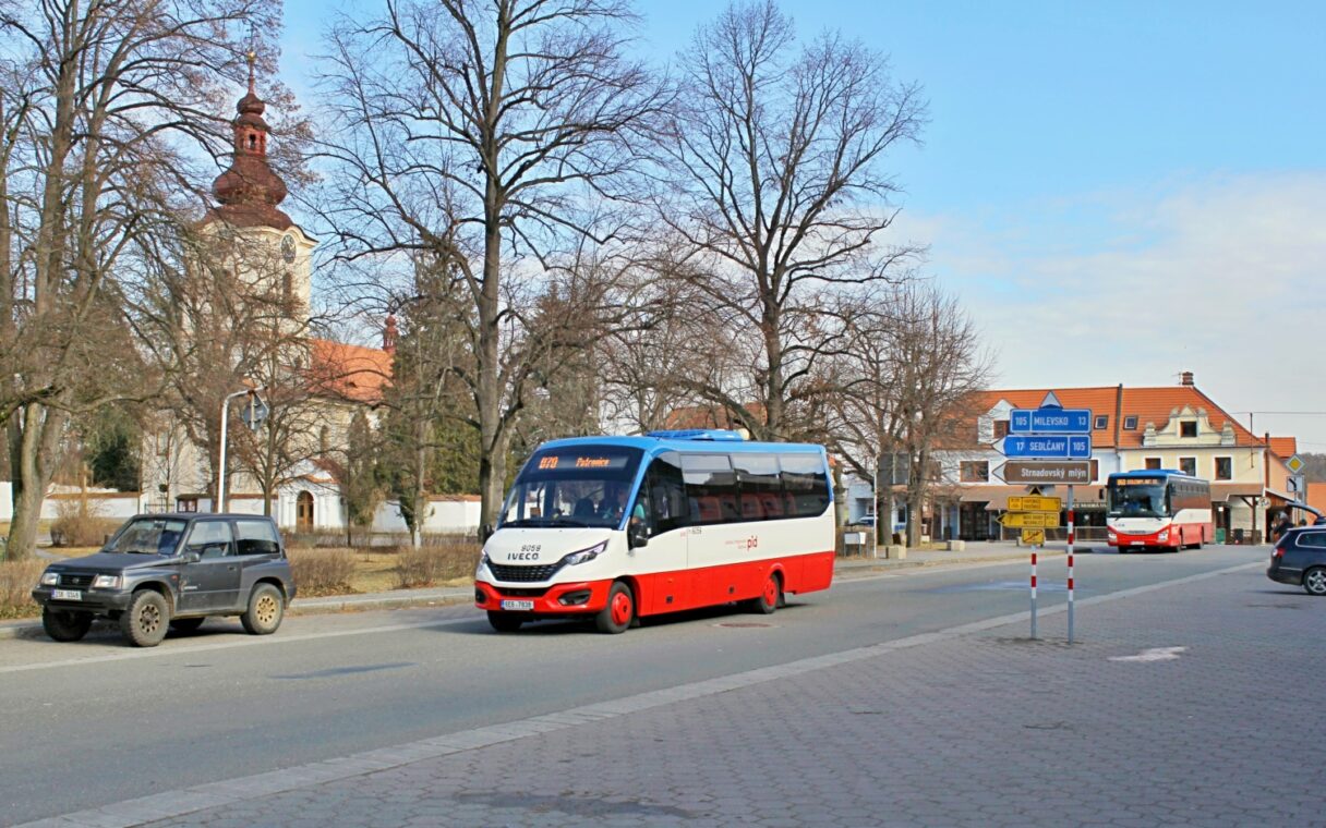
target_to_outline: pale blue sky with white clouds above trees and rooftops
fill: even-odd
[[[347,8],[373,9],[375,0]],[[1005,387],[1162,386],[1246,412],[1326,412],[1326,4],[785,0],[888,53],[930,101],[898,151],[900,234],[959,293]],[[306,90],[329,4],[288,0]],[[668,60],[713,0],[642,0]],[[305,93],[306,94],[306,93]],[[1256,429],[1326,452],[1326,416]]]

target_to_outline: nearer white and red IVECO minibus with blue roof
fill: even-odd
[[[577,437],[538,446],[484,543],[475,604],[499,632],[593,616],[638,619],[785,594],[833,580],[825,449],[747,442],[735,432]]]

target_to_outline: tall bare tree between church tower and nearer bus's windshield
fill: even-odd
[[[485,521],[534,366],[569,330],[522,311],[549,293],[552,253],[611,237],[586,196],[633,171],[662,101],[623,57],[631,20],[619,0],[389,0],[330,38],[328,219],[346,257],[423,252],[463,281]]]

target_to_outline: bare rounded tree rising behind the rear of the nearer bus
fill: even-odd
[[[806,409],[829,391],[818,363],[845,344],[825,309],[915,252],[882,242],[896,193],[882,164],[918,134],[918,90],[838,36],[798,46],[772,0],[731,5],[682,60],[658,215],[686,240],[709,301],[752,331],[732,351],[744,382],[727,370],[725,384],[697,376],[693,391],[758,437],[808,436],[818,429]]]

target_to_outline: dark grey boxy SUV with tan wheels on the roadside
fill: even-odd
[[[190,632],[213,615],[276,632],[294,579],[271,518],[154,514],[130,518],[95,555],[46,567],[32,597],[56,641],[82,639],[103,616],[130,644],[156,647],[167,627]]]

